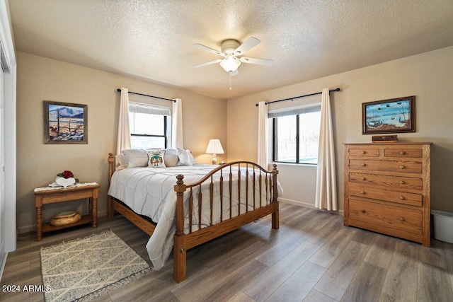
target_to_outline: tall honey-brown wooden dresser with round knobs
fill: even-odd
[[[345,226],[430,246],[431,144],[345,144]]]

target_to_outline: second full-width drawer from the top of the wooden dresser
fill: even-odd
[[[349,173],[349,181],[362,185],[382,187],[395,190],[423,190],[421,178],[405,178],[402,176],[389,176],[366,173]]]

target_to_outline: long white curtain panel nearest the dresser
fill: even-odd
[[[327,209],[328,211],[336,211],[338,209],[336,183],[331,100],[328,95],[328,88],[323,88],[321,100],[321,130],[319,133],[318,171],[316,175],[316,208]]]

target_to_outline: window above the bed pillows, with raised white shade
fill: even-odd
[[[171,133],[170,108],[130,103],[129,124],[132,149],[165,149]]]

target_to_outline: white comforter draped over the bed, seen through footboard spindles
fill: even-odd
[[[128,207],[134,210],[137,214],[148,216],[152,221],[157,223],[156,229],[149,238],[147,243],[147,251],[149,259],[153,263],[154,269],[159,270],[164,266],[168,256],[173,249],[173,235],[175,234],[175,216],[176,216],[176,192],[174,185],[176,184],[176,175],[184,175],[184,183],[190,185],[200,180],[203,176],[209,173],[212,169],[217,168],[218,165],[194,165],[194,166],[178,166],[172,168],[126,168],[117,170],[113,173],[110,189],[108,194],[116,199],[124,202]],[[246,211],[245,194],[245,170],[241,166],[241,213]],[[234,181],[233,181],[233,216],[237,216],[238,202],[237,202],[237,166],[232,168]],[[242,171],[243,170],[243,171]],[[253,182],[252,170],[249,168],[248,180],[248,203],[249,209],[253,210]],[[257,170],[258,175],[258,170]],[[220,174],[214,175],[214,217],[213,223],[220,221],[220,207],[219,207],[219,177]],[[264,177],[264,175],[263,175]],[[229,218],[229,168],[224,169],[224,207],[223,218]],[[280,185],[278,185],[278,195],[282,194]],[[256,200],[259,202],[258,197],[258,180],[256,181]],[[197,194],[198,187],[194,188],[194,209],[193,212],[193,231],[198,228],[198,209],[197,209]],[[263,180],[263,191],[265,191],[265,184]],[[210,205],[209,205],[209,182],[207,185],[202,186],[202,227],[210,224]],[[189,190],[184,193],[184,207],[185,213],[188,212],[188,197]],[[217,197],[217,198],[216,198]],[[262,197],[263,206],[269,204],[270,195]],[[257,205],[258,207],[258,205]],[[188,216],[185,217],[185,233],[188,233]]]

